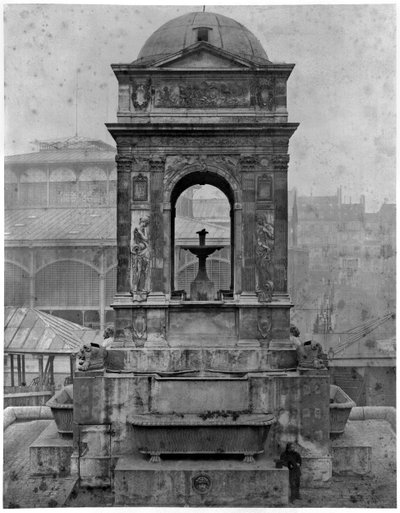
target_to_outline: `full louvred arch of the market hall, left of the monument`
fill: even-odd
[[[37,306],[98,306],[99,275],[81,262],[62,261],[36,275]]]

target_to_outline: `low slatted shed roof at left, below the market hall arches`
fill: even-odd
[[[84,328],[35,308],[5,308],[6,353],[72,354],[82,343],[101,345],[102,341],[99,330]]]

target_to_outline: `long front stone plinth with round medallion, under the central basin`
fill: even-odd
[[[277,507],[288,503],[287,469],[272,460],[168,460],[124,456],[115,467],[117,506]]]

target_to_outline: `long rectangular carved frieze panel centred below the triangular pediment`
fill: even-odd
[[[249,88],[244,80],[169,81],[155,88],[155,107],[160,108],[235,108],[249,105]]]

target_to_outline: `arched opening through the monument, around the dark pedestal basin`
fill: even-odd
[[[199,259],[188,246],[199,245],[197,232],[206,230],[206,246],[218,247],[206,259],[206,272],[215,297],[233,297],[234,194],[227,181],[213,173],[184,176],[171,194],[171,291],[172,297],[191,297],[191,284]],[[201,264],[200,264],[201,266]],[[213,292],[214,294],[214,292]]]

